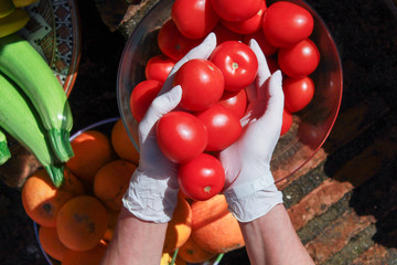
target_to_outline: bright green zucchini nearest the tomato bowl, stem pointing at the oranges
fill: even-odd
[[[53,71],[36,50],[17,33],[0,38],[0,71],[28,96],[41,117],[55,155],[61,161],[73,156],[73,126],[67,97]]]

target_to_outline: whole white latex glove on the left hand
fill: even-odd
[[[216,38],[211,33],[202,44],[192,49],[175,64],[159,96],[139,124],[139,167],[132,174],[122,202],[125,208],[141,220],[164,223],[172,218],[179,192],[178,165],[161,152],[155,139],[155,124],[174,109],[182,98],[181,86],[171,89],[175,72],[189,60],[207,59],[215,46]]]

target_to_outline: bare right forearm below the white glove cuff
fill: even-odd
[[[314,264],[282,204],[253,222],[240,223],[240,227],[253,265]]]

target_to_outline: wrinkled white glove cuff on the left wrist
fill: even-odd
[[[174,183],[175,182],[175,183]],[[137,169],[122,198],[124,206],[140,220],[167,223],[178,202],[178,181],[148,177]]]

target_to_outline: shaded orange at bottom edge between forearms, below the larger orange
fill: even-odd
[[[193,236],[190,236],[189,240],[179,248],[178,255],[189,263],[203,263],[216,256],[215,253],[207,252],[201,247],[193,240]]]

